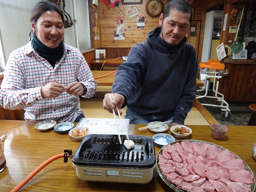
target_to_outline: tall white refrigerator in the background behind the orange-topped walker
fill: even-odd
[[[215,46],[220,41],[222,18],[223,11],[210,11],[206,13],[201,62],[207,62],[210,59],[211,51],[216,52]],[[214,42],[213,48],[212,42]]]

